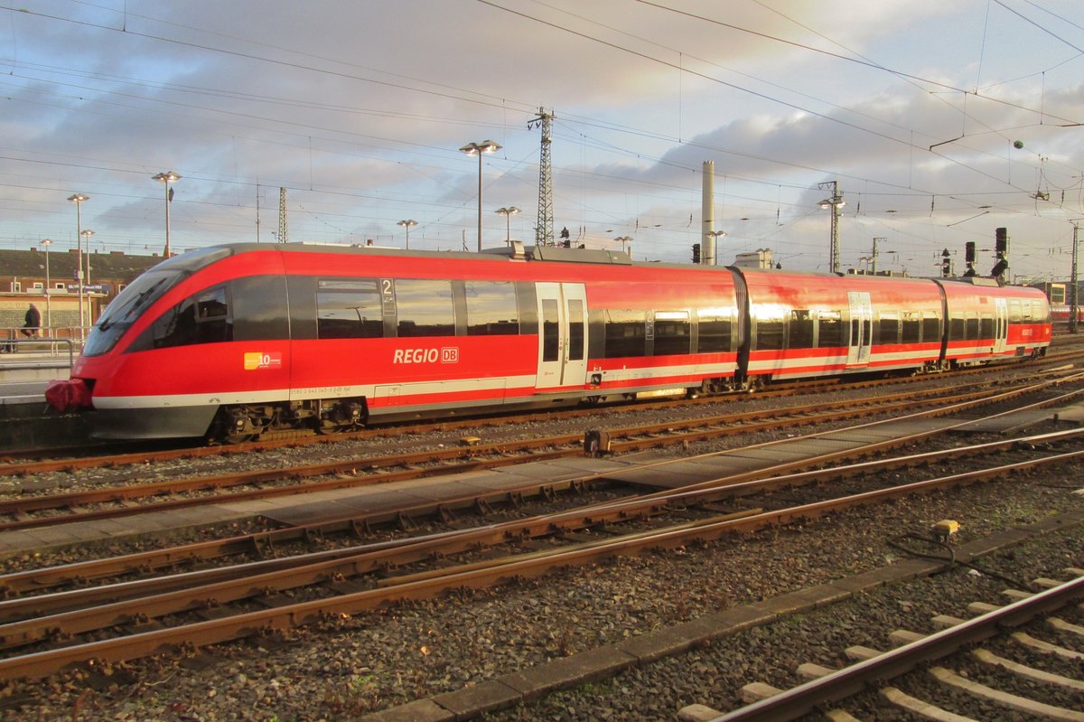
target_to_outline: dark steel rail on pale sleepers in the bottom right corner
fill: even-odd
[[[838,702],[872,684],[905,674],[919,665],[955,654],[962,647],[997,636],[1084,597],[1084,577],[950,627],[891,652],[851,665],[793,689],[711,719],[711,722],[795,720],[821,705]]]

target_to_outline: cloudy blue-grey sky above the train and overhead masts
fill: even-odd
[[[932,274],[964,245],[1064,278],[1084,219],[1079,0],[0,0],[0,247],[533,243],[686,261],[715,169],[720,260]],[[522,209],[506,219],[498,208]]]

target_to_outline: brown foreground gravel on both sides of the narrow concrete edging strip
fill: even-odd
[[[734,442],[718,443],[724,446]],[[1084,465],[1075,464],[837,514],[808,527],[615,559],[495,590],[358,615],[323,629],[293,632],[285,640],[228,645],[184,661],[166,656],[114,666],[90,678],[65,674],[14,684],[0,689],[11,698],[2,714],[9,720],[352,720],[882,566],[903,556],[888,545],[889,538],[925,531],[938,519],[959,520],[958,541],[966,542],[1079,510],[1082,498],[1071,488],[1080,485],[1082,473]],[[1067,566],[1084,566],[1084,530],[1049,536],[979,564],[1024,581],[1054,576]],[[737,691],[747,682],[787,686],[796,681],[792,669],[802,661],[841,665],[848,645],[886,647],[891,629],[885,624],[898,626],[901,609],[914,619],[914,629],[928,630],[930,616],[967,616],[967,603],[996,602],[1005,586],[993,577],[960,569],[720,640],[487,719],[669,721],[688,704],[726,709],[738,704]],[[818,618],[822,615],[827,617]],[[1084,623],[1080,617],[1069,621]],[[780,641],[789,650],[784,659],[765,654]],[[201,665],[208,656],[210,663]],[[24,704],[13,704],[16,699]]]

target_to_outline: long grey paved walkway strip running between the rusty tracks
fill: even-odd
[[[1084,404],[1051,408],[1047,418],[1079,417]],[[1002,417],[1005,428],[1018,424],[1014,414]],[[1077,422],[1079,423],[1079,422]],[[892,420],[861,427],[825,431],[795,439],[688,456],[674,463],[672,456],[641,452],[620,457],[582,457],[540,461],[490,470],[392,481],[333,491],[304,493],[255,501],[222,501],[186,510],[149,512],[116,519],[72,521],[39,529],[0,532],[0,557],[35,551],[62,550],[75,545],[108,544],[122,538],[157,537],[170,531],[206,528],[250,519],[275,525],[313,525],[362,517],[392,515],[401,510],[416,513],[437,507],[455,508],[456,500],[485,494],[525,495],[540,487],[556,490],[578,481],[610,479],[650,490],[679,489],[738,475],[771,473],[782,464],[823,464],[831,454],[855,451],[909,434],[938,434],[959,428],[967,420]],[[984,428],[984,433],[991,433]],[[17,485],[17,480],[10,480]]]

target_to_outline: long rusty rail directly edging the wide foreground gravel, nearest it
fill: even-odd
[[[534,552],[506,557],[505,560],[481,565],[466,565],[442,570],[439,577],[409,578],[401,583],[387,582],[377,590],[344,594],[332,599],[295,603],[273,609],[244,613],[222,619],[182,624],[173,628],[142,632],[115,640],[78,644],[60,649],[31,653],[0,660],[0,679],[13,676],[41,676],[67,665],[102,659],[121,661],[156,654],[178,645],[203,646],[232,639],[248,636],[278,629],[326,620],[350,615],[403,599],[430,598],[442,592],[460,588],[482,588],[509,579],[537,577],[554,567],[590,564],[619,554],[636,554],[645,549],[671,547],[693,541],[712,541],[734,532],[752,532],[771,525],[817,518],[826,512],[867,505],[886,499],[898,499],[913,493],[925,493],[958,485],[970,485],[1009,475],[1018,470],[1046,464],[1084,459],[1084,451],[1056,454],[1038,460],[1018,462],[976,472],[915,481],[875,491],[850,494],[839,499],[813,502],[795,507],[762,512],[722,521],[683,524],[654,532],[637,532],[612,540],[578,545],[571,550],[553,553]]]

